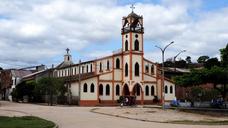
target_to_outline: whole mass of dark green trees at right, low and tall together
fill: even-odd
[[[226,98],[228,92],[228,44],[220,49],[221,61],[218,58],[200,56],[198,63],[201,69],[191,69],[190,73],[174,77],[175,84],[181,87],[194,87],[211,83],[213,88]]]

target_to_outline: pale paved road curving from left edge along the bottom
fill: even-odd
[[[227,125],[205,126],[143,122],[92,113],[91,109],[93,107],[50,107],[0,101],[0,115],[7,114],[6,110],[21,112],[25,115],[39,116],[54,121],[59,128],[227,128]]]

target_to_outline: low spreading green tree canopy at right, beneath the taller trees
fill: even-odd
[[[192,70],[189,74],[175,77],[174,81],[176,85],[183,87],[212,83],[214,88],[225,98],[228,91],[228,68],[214,66],[211,69]]]

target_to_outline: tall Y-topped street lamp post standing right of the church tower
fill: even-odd
[[[167,47],[169,47],[169,45],[173,44],[174,41],[170,42],[168,45],[166,45],[163,49],[161,47],[155,46],[157,48],[159,48],[162,52],[162,109],[165,109],[165,72],[164,72],[164,54],[165,54],[165,50]]]

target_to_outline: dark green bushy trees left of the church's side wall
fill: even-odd
[[[48,103],[53,104],[53,96],[64,97],[67,88],[63,79],[54,77],[43,77],[35,80],[23,81],[13,90],[14,101],[23,101],[25,96],[29,102],[44,102],[43,96],[48,96]]]

